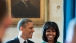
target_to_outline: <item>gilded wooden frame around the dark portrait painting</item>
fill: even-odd
[[[8,12],[11,14],[11,0],[7,0]],[[33,21],[35,25],[42,25],[45,21],[47,21],[48,11],[47,11],[47,0],[40,0],[40,18],[29,18]],[[17,22],[21,18],[12,18],[13,25],[17,24]]]

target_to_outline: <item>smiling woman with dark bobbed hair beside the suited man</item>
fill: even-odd
[[[60,43],[57,41],[60,33],[55,22],[46,22],[43,26],[42,43]]]

